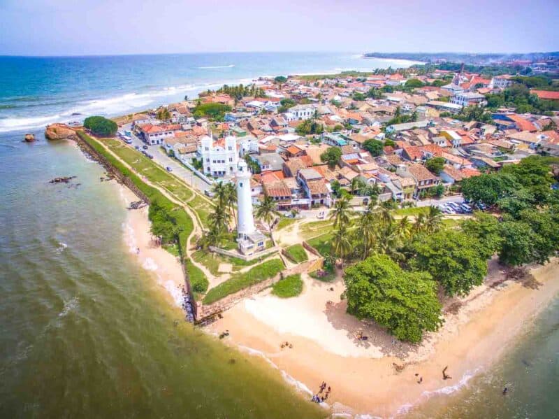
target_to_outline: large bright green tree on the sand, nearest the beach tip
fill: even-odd
[[[375,320],[398,339],[419,342],[442,325],[437,286],[430,275],[404,271],[386,255],[372,255],[344,271],[347,312]]]

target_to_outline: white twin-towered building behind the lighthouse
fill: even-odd
[[[203,136],[198,154],[201,155],[205,175],[233,176],[239,160],[237,139],[226,136],[222,141],[213,141],[209,136]]]

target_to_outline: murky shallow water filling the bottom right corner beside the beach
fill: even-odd
[[[507,388],[506,395],[503,395]],[[559,299],[502,360],[451,395],[433,395],[406,418],[559,418]]]

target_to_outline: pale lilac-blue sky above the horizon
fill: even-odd
[[[0,0],[0,55],[559,50],[558,0]]]

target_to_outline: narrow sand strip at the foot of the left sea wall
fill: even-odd
[[[127,187],[115,185],[124,206],[128,206],[132,201],[138,201],[138,197]],[[147,211],[147,206],[128,211],[122,225],[124,242],[133,257],[138,259],[138,263],[147,271],[153,271],[157,283],[165,288],[173,303],[180,307],[182,305],[180,287],[184,285],[182,267],[177,257],[154,243],[150,234],[151,223],[147,218]]]

